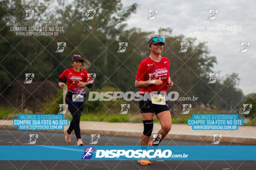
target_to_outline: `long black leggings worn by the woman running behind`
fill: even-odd
[[[68,110],[70,111],[73,119],[70,122],[70,127],[67,130],[67,133],[70,134],[73,130],[75,130],[76,138],[81,139],[80,133],[80,116],[84,109],[84,102],[81,103],[73,103],[72,95],[66,95],[65,102],[68,105]]]

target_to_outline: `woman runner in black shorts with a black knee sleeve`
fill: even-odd
[[[146,96],[139,102],[144,125],[141,145],[158,145],[172,127],[169,102],[166,99],[166,94],[167,88],[172,88],[173,83],[169,77],[169,59],[160,55],[163,51],[163,45],[165,45],[163,38],[152,37],[148,41],[150,56],[140,62],[137,71],[135,87],[141,88],[140,94]],[[162,97],[157,95],[160,93],[163,94]],[[158,136],[153,142],[149,142],[153,130],[154,113],[161,124],[161,129],[157,133],[161,137]],[[151,164],[148,160],[140,160],[139,162],[141,164]]]

